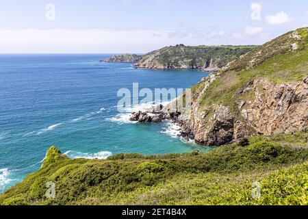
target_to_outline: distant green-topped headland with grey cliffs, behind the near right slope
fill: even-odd
[[[220,47],[187,47],[179,44],[175,47],[147,53],[137,62],[137,68],[198,68],[218,70],[229,62],[251,51],[254,46],[220,46]]]

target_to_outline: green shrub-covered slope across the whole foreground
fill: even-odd
[[[38,172],[0,196],[2,205],[308,204],[308,133],[258,136],[209,153],[69,159],[55,147]],[[277,171],[278,170],[278,171]],[[47,199],[53,181],[56,198]],[[251,198],[253,181],[261,198]]]

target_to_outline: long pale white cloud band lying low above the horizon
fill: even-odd
[[[255,30],[256,31],[256,30]],[[146,53],[175,44],[262,44],[269,36],[206,29],[0,29],[0,53]]]

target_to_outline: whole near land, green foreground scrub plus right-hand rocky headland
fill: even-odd
[[[290,31],[204,78],[190,109],[162,109],[210,152],[88,160],[52,146],[0,205],[308,205],[307,57],[308,28]]]

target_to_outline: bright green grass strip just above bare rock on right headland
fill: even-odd
[[[210,105],[227,105],[236,116],[238,106],[236,100],[249,96],[238,96],[238,90],[245,84],[259,78],[266,78],[273,85],[279,83],[292,83],[307,77],[308,49],[275,55],[255,68],[236,72],[231,70],[222,73],[222,76],[211,83],[206,92],[201,96],[200,111]],[[198,86],[201,86],[200,84]],[[251,101],[254,96],[251,95]],[[248,99],[246,99],[248,100]]]

